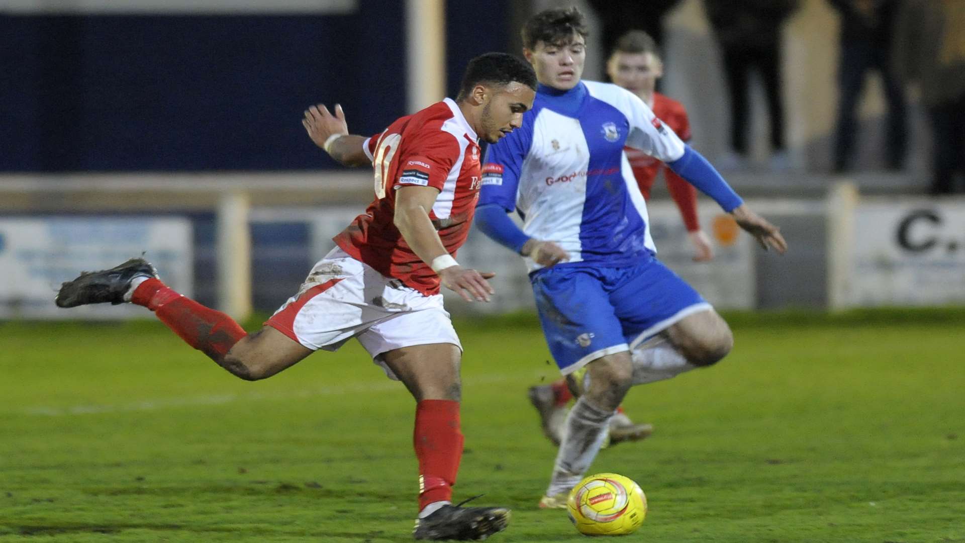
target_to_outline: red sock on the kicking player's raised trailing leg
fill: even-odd
[[[131,302],[151,309],[188,345],[216,362],[222,361],[232,346],[247,335],[228,315],[184,298],[160,279],[148,279],[138,285]]]

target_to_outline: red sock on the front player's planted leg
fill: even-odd
[[[452,500],[455,474],[462,458],[459,402],[419,402],[413,444],[419,459],[419,510],[433,501]]]

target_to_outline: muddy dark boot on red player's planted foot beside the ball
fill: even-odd
[[[462,503],[466,501],[469,500],[456,505],[443,505],[425,519],[417,519],[413,532],[415,538],[476,541],[502,531],[510,524],[510,509],[463,507]]]

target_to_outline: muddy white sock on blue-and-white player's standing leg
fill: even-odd
[[[612,411],[597,408],[586,396],[576,401],[566,416],[563,443],[560,443],[560,452],[556,455],[546,496],[569,492],[580,482],[603,445],[613,414]]]

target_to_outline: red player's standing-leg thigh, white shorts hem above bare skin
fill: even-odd
[[[375,323],[358,335],[359,343],[417,400],[458,399],[459,337],[441,295],[424,300],[423,306]]]

